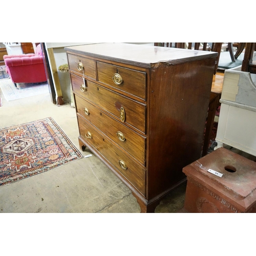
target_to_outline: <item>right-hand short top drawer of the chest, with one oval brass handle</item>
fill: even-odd
[[[97,61],[98,81],[146,99],[146,73]]]

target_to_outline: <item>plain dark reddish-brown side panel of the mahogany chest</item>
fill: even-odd
[[[209,58],[151,70],[150,198],[178,184],[182,168],[201,157],[214,65]]]

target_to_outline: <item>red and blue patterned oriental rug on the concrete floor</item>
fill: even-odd
[[[82,157],[51,117],[0,129],[0,186]]]

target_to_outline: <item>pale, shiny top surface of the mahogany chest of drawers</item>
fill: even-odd
[[[218,53],[209,51],[186,50],[179,48],[155,47],[125,43],[102,43],[67,47],[74,54],[85,54],[106,60],[122,61],[128,64],[148,67],[156,63],[182,63],[191,60],[217,57]]]

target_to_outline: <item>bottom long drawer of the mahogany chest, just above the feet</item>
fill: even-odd
[[[82,139],[93,146],[118,172],[145,195],[145,169],[100,135],[87,121],[78,117]]]

